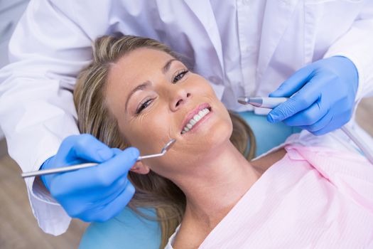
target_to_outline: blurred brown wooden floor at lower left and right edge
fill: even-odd
[[[373,135],[373,98],[357,110],[357,121]],[[67,233],[54,237],[43,233],[33,218],[21,170],[9,157],[0,159],[0,248],[77,248],[87,223],[74,220]]]

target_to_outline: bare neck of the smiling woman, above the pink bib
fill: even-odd
[[[215,152],[214,157],[198,164],[198,171],[175,181],[187,200],[183,226],[194,223],[211,230],[259,179],[260,173],[230,142],[220,153]]]

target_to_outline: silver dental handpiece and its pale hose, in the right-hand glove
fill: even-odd
[[[238,97],[237,100],[242,105],[254,105],[255,107],[274,109],[274,107],[288,100],[288,97]],[[367,144],[361,142],[362,139],[346,125],[340,129],[359,147],[364,156],[373,164],[373,152]]]

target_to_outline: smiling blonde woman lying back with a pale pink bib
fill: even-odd
[[[153,154],[176,139],[165,156],[129,172],[136,189],[129,207],[156,208],[160,248],[373,245],[367,160],[337,146],[333,135],[301,134],[250,161],[249,127],[163,43],[97,39],[74,97],[80,132],[109,147]]]

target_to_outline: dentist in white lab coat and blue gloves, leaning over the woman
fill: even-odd
[[[105,164],[26,179],[45,233],[64,233],[71,217],[106,221],[134,194],[123,179],[139,151],[121,152],[80,134],[72,102],[92,41],[113,33],[154,38],[185,55],[229,110],[266,115],[237,97],[292,96],[267,119],[313,134],[349,122],[373,92],[370,0],[31,1],[11,38],[11,63],[0,71],[9,154],[23,171]]]

